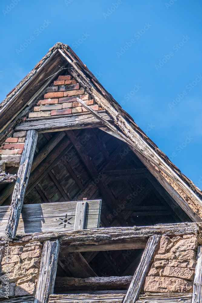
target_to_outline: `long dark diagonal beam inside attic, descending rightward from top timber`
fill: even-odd
[[[114,210],[118,207],[118,201],[114,198],[111,191],[102,181],[102,175],[98,174],[94,164],[89,159],[86,151],[84,150],[83,146],[81,146],[79,140],[76,138],[74,132],[72,130],[66,131],[69,139],[71,140],[72,144],[74,145],[76,151],[78,152],[79,157],[81,158],[81,161],[84,163],[86,169],[88,170],[89,174],[93,178],[93,181],[96,181],[96,185],[101,192],[104,200],[109,205],[111,210]],[[117,218],[121,225],[127,226],[127,222],[118,214]]]

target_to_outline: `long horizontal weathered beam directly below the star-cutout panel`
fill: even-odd
[[[29,241],[46,241],[59,239],[62,247],[68,252],[75,251],[99,251],[99,245],[111,245],[111,250],[127,249],[141,245],[145,248],[147,240],[152,235],[187,235],[194,234],[200,244],[202,244],[202,223],[184,222],[174,224],[157,224],[154,226],[134,226],[134,227],[110,227],[92,228],[82,231],[72,232],[41,232],[20,234],[15,237],[14,243],[26,243]],[[143,243],[145,245],[143,246]],[[2,241],[3,245],[4,242]],[[119,247],[118,247],[119,246]]]

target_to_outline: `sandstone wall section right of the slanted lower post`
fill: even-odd
[[[193,291],[198,241],[195,235],[162,236],[160,248],[146,277],[144,291],[151,293]]]

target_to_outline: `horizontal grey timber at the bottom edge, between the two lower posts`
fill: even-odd
[[[48,303],[121,303],[124,296],[124,294],[50,295]]]

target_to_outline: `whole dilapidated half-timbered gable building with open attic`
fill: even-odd
[[[68,45],[0,103],[0,156],[2,302],[202,302],[202,192]]]

